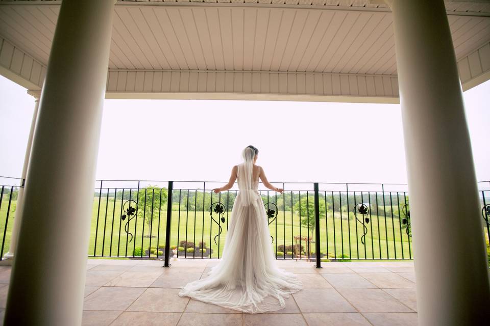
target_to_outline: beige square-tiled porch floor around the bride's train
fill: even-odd
[[[413,262],[313,262],[285,260],[305,289],[286,308],[243,314],[178,296],[187,282],[206,276],[216,260],[89,259],[83,325],[160,326],[408,326],[417,324]],[[208,267],[208,268],[207,268]],[[0,266],[0,320],[10,266]]]

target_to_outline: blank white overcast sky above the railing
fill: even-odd
[[[464,93],[478,180],[490,180],[490,82]],[[0,76],[0,175],[20,177],[34,108]],[[97,179],[226,181],[242,148],[269,181],[405,183],[400,105],[105,100]]]

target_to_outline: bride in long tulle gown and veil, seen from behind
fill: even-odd
[[[230,181],[215,193],[230,189],[238,182],[238,195],[226,235],[223,258],[204,279],[186,284],[179,296],[247,313],[276,311],[285,307],[290,293],[303,289],[296,275],[278,268],[271,248],[267,217],[257,191],[263,184],[282,194],[267,181],[262,167],[255,165],[257,148],[242,152],[243,162],[234,166]]]

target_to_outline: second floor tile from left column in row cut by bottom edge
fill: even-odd
[[[180,313],[172,312],[125,311],[114,320],[111,326],[175,326],[180,315]]]

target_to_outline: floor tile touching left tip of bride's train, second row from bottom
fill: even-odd
[[[180,289],[148,288],[127,311],[183,312],[189,302],[188,297],[178,295]]]

